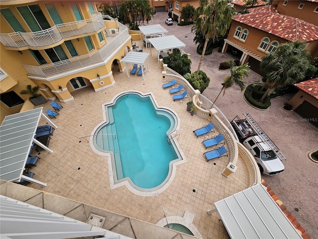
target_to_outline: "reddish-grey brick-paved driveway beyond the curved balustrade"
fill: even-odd
[[[195,52],[193,42],[194,34],[190,26],[167,26],[164,19],[166,12],[158,12],[149,24],[160,23],[169,32],[186,44],[184,51],[191,54],[191,71],[196,71],[200,56]],[[216,49],[215,49],[216,50]],[[214,101],[219,94],[225,76],[229,71],[218,71],[219,64],[233,58],[229,54],[221,54],[215,51],[210,56],[205,56],[201,70],[210,77],[210,85],[203,95]],[[245,84],[260,82],[261,76],[251,71],[251,75],[245,79]],[[272,105],[267,111],[256,110],[249,106],[243,99],[239,88],[234,86],[228,89],[224,96],[219,97],[217,107],[229,119],[237,115],[241,118],[242,113],[249,113],[265,133],[272,139],[281,152],[287,158],[284,161],[285,171],[280,175],[265,176],[263,179],[281,199],[287,209],[300,222],[302,227],[316,238],[318,235],[318,163],[311,161],[308,153],[318,149],[318,129],[310,123],[303,121],[294,112],[285,112],[282,106],[292,95],[272,100]]]

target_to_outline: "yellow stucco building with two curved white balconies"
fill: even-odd
[[[0,2],[0,110],[33,109],[27,85],[48,100],[73,101],[72,92],[115,84],[114,65],[132,48],[126,26],[98,10],[98,1]]]

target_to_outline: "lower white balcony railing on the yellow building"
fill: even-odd
[[[31,75],[47,77],[104,61],[114,51],[114,49],[117,49],[127,39],[127,37],[129,37],[128,28],[120,28],[123,28],[124,30],[97,52],[42,66],[23,66]]]

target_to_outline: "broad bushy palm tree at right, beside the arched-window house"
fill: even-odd
[[[260,102],[264,102],[270,90],[275,87],[293,85],[305,79],[310,65],[310,53],[305,49],[307,43],[294,41],[281,44],[275,52],[263,57],[259,64],[266,74],[266,82],[261,91],[268,87]]]

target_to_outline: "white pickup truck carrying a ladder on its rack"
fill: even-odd
[[[261,173],[276,175],[284,171],[281,158],[285,158],[276,145],[246,113],[246,119],[237,116],[231,121],[239,141],[250,151]],[[280,157],[279,157],[279,156]]]

